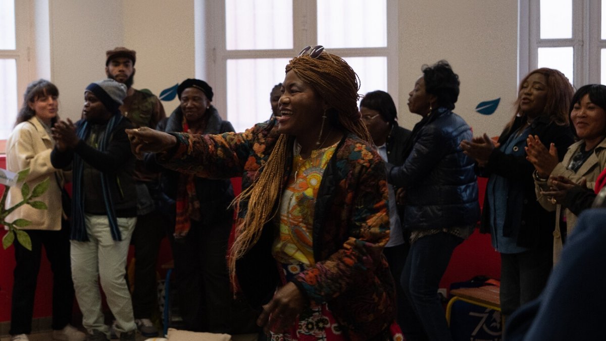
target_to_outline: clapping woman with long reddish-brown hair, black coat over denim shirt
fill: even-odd
[[[556,160],[564,156],[573,141],[568,127],[573,91],[558,70],[531,71],[520,82],[515,113],[498,142],[484,134],[461,143],[475,159],[478,175],[488,177],[481,231],[490,232],[492,246],[501,253],[499,295],[505,317],[539,296],[552,268],[554,214],[536,201],[526,139],[540,136],[558,147]]]

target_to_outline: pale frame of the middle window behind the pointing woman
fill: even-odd
[[[227,117],[227,60],[256,58],[293,58],[301,48],[316,44],[317,3],[315,0],[293,1],[293,48],[281,50],[227,50],[225,47],[225,1],[205,3],[205,59],[204,65],[196,67],[196,74],[203,75],[213,88],[218,89],[213,105],[223,118]],[[398,105],[398,1],[387,1],[387,47],[330,48],[343,58],[381,56],[387,58],[387,89]],[[295,15],[296,13],[296,15]],[[205,71],[205,72],[204,72]],[[269,93],[268,89],[268,93]]]

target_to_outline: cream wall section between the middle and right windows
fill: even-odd
[[[518,54],[518,2],[502,0],[407,0],[399,8],[399,118],[412,128],[420,116],[406,105],[421,76],[421,65],[446,59],[459,75],[455,113],[474,134],[501,133],[513,115]],[[490,116],[475,111],[479,102],[501,98]]]

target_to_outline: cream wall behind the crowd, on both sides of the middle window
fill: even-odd
[[[116,46],[137,51],[135,88],[159,94],[195,77],[195,1],[201,0],[50,1],[51,77],[61,91],[62,117],[79,118],[82,91],[104,78],[105,51]],[[476,134],[498,135],[516,97],[517,1],[399,1],[398,17],[399,94],[392,95],[401,125],[419,121],[406,103],[421,65],[447,59],[461,79],[454,111]],[[474,110],[499,97],[491,116]],[[170,113],[177,104],[164,105]]]

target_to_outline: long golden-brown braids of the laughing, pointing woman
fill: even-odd
[[[323,51],[318,58],[304,55],[291,59],[285,71],[295,72],[302,81],[314,88],[322,101],[327,102],[330,107],[327,114],[344,133],[353,133],[372,143],[358,110],[358,74],[347,62],[339,56]],[[242,223],[236,227],[236,239],[230,250],[229,268],[232,282],[235,280],[236,260],[258,242],[265,223],[277,213],[276,202],[282,195],[287,146],[291,145],[293,139],[294,137],[285,134],[278,138],[267,162],[261,167],[259,177],[234,199],[236,207],[248,200],[248,210]]]

